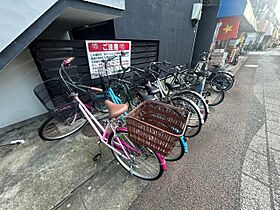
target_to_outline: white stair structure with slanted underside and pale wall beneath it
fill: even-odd
[[[0,2],[0,128],[46,113],[33,88],[42,82],[28,45],[36,38],[71,39],[69,29],[119,17],[125,1]]]

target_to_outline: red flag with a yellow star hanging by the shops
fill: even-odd
[[[217,40],[224,41],[229,39],[237,39],[240,26],[240,17],[221,18],[222,23]]]

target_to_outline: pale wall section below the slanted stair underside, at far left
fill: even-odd
[[[41,82],[28,49],[0,72],[0,128],[46,112],[33,94]]]

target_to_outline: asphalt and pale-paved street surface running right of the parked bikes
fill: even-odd
[[[279,61],[275,51],[249,55],[189,156],[130,209],[279,209]]]

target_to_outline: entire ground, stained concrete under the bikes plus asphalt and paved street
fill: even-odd
[[[280,209],[280,53],[249,55],[190,154],[155,182],[128,176],[96,136],[43,142],[41,119],[0,132],[0,209]],[[234,71],[236,71],[236,68]],[[87,135],[84,135],[87,134]]]

